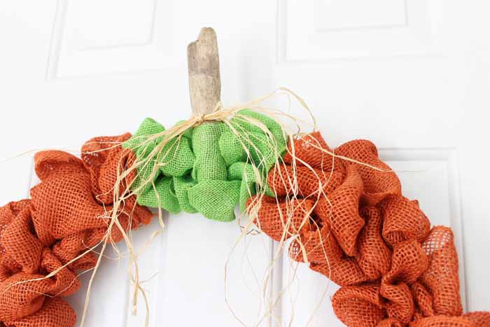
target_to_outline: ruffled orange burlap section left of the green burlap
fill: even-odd
[[[104,237],[118,164],[122,169],[134,160],[131,151],[117,146],[129,137],[91,139],[82,148],[81,160],[62,151],[36,153],[41,183],[31,188],[31,199],[0,208],[0,325],[75,325],[75,312],[59,297],[78,290],[76,271],[94,267],[97,255],[88,253],[53,277],[41,278]],[[124,228],[151,220],[151,212],[137,205],[134,197],[121,210]],[[111,237],[117,242],[122,235],[113,228]]]

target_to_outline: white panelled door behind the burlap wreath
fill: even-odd
[[[187,118],[186,46],[211,26],[224,104],[287,86],[330,146],[374,141],[405,195],[433,224],[454,228],[465,309],[490,309],[489,10],[462,0],[4,0],[1,157],[76,150],[97,135],[133,132],[145,117],[166,126]],[[31,164],[31,154],[0,163],[2,204],[27,196]],[[302,266],[274,319],[261,320],[270,305],[263,293],[288,285],[291,271],[285,257],[264,282],[267,238],[247,237],[232,251],[236,221],[165,221],[140,260],[151,326],[240,326],[237,318],[342,326],[330,304],[337,286]],[[155,228],[134,232],[140,248]],[[81,278],[86,286],[88,274]],[[79,315],[84,298],[83,290],[69,298]],[[133,316],[129,298],[124,260],[104,260],[85,326],[144,326],[143,301]]]

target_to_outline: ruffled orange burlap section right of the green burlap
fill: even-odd
[[[385,171],[332,160],[318,146]],[[297,169],[286,154],[286,164],[269,172],[279,204],[262,200],[255,223],[272,239],[295,236],[290,257],[308,261],[312,270],[342,286],[332,298],[342,322],[349,327],[490,326],[489,313],[461,315],[451,229],[430,229],[419,203],[402,196],[398,177],[379,160],[374,144],[357,140],[331,149],[315,132],[289,144],[289,151],[299,159]],[[294,174],[297,189],[284,183]],[[288,206],[286,195],[297,195],[295,203],[313,209],[294,215],[290,225],[302,221],[302,228],[281,228],[287,223],[281,218],[286,213],[279,215]]]

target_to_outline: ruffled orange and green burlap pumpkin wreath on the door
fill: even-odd
[[[204,134],[213,134],[214,145],[218,144],[219,149],[219,138],[226,130],[218,126],[216,132],[215,127],[202,129],[211,129]],[[144,133],[140,130],[139,134]],[[31,199],[0,208],[0,322],[5,326],[75,325],[76,314],[62,298],[78,290],[76,271],[93,267],[97,257],[88,252],[57,274],[51,276],[50,272],[83,254],[106,232],[111,219],[107,211],[111,210],[113,186],[120,169],[118,162],[130,165],[146,151],[128,140],[130,134],[94,138],[83,146],[81,159],[62,151],[37,153],[35,167],[41,183],[31,189]],[[227,141],[230,140],[224,139],[223,144],[232,144]],[[113,146],[113,142],[118,145]],[[223,211],[209,212],[193,204],[186,191],[216,178],[200,179],[200,172],[194,172],[203,155],[195,148],[199,141],[189,134],[184,142],[188,146],[182,149],[186,158],[193,160],[192,165],[190,161],[176,162],[185,169],[173,175],[162,169],[158,181],[165,186],[161,195],[174,196],[173,207],[170,202],[156,205],[168,205],[166,208],[175,212],[201,211],[209,218],[229,221],[230,208],[240,199],[254,204],[254,198],[244,194],[241,174],[230,173],[230,167],[237,162],[241,165],[238,172],[243,172],[248,163],[238,156],[227,160],[223,151],[215,151],[211,157],[223,159],[219,180],[233,184],[235,197],[229,199]],[[206,144],[209,142],[202,146]],[[291,155],[286,154],[284,163],[269,171],[271,196],[260,199],[255,223],[272,239],[295,236],[290,257],[307,261],[312,270],[342,286],[332,298],[339,319],[350,327],[490,326],[488,312],[462,314],[458,258],[451,229],[430,228],[418,203],[402,196],[394,172],[334,158],[325,151],[389,170],[370,141],[351,141],[332,151],[318,132],[311,133],[289,144],[288,153],[294,152],[299,159],[294,165]],[[190,187],[180,188],[175,179],[185,174],[190,174],[186,179]],[[128,176],[127,182],[135,177]],[[291,177],[297,179],[295,189],[282,182]],[[246,183],[246,187],[251,188],[252,184]],[[286,222],[284,199],[292,193],[293,218]],[[138,202],[149,204],[148,197],[144,199]],[[135,197],[127,199],[121,210],[120,221],[125,229],[151,220],[151,212],[137,204]],[[111,230],[114,241],[121,237],[118,230]]]

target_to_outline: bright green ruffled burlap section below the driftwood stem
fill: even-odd
[[[207,122],[187,130],[140,165],[132,183],[137,202],[173,214],[200,212],[216,221],[232,221],[237,204],[244,211],[248,197],[257,193],[259,180],[265,193],[273,196],[266,178],[286,151],[281,125],[255,111],[244,109],[239,114],[230,120],[231,128]],[[139,160],[146,159],[162,137],[146,139],[163,131],[165,127],[146,118],[123,147],[132,149]],[[153,183],[145,183],[152,175]]]

